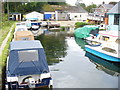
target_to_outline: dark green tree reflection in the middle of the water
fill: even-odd
[[[49,65],[63,61],[62,58],[67,54],[67,44],[64,33],[47,32],[47,34],[37,36],[35,39],[41,41],[45,49]]]

